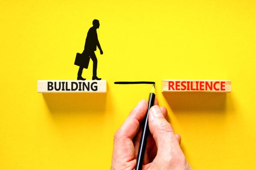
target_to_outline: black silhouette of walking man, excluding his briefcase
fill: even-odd
[[[96,51],[96,47],[99,48],[100,54],[103,54],[102,48],[99,44],[98,35],[96,29],[99,28],[99,20],[93,20],[93,26],[89,29],[87,33],[87,37],[85,40],[83,55],[88,55],[93,60],[93,80],[101,80],[101,78],[97,77],[97,64],[98,60],[94,53]],[[82,77],[83,67],[79,67],[77,73],[77,80],[85,80]]]

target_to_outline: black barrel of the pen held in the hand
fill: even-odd
[[[141,122],[141,125],[143,127],[142,127],[140,146],[139,146],[139,150],[138,150],[137,163],[136,163],[135,170],[142,169],[145,149],[146,149],[146,145],[147,145],[148,133],[149,133],[148,113],[149,113],[149,109],[154,105],[154,99],[155,99],[155,94],[150,93],[149,97],[148,97],[148,111],[145,115],[145,118],[143,119],[143,122]]]

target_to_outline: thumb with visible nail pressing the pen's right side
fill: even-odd
[[[167,122],[159,106],[154,105],[150,109],[148,125],[157,145],[157,155],[170,156],[180,149],[172,125]]]

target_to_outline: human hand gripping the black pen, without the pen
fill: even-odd
[[[155,105],[150,109],[147,146],[143,170],[192,170],[180,149],[180,136],[174,133],[167,122],[167,110]],[[142,127],[140,122],[148,109],[148,101],[143,99],[131,111],[114,136],[111,170],[134,170],[140,145]]]

